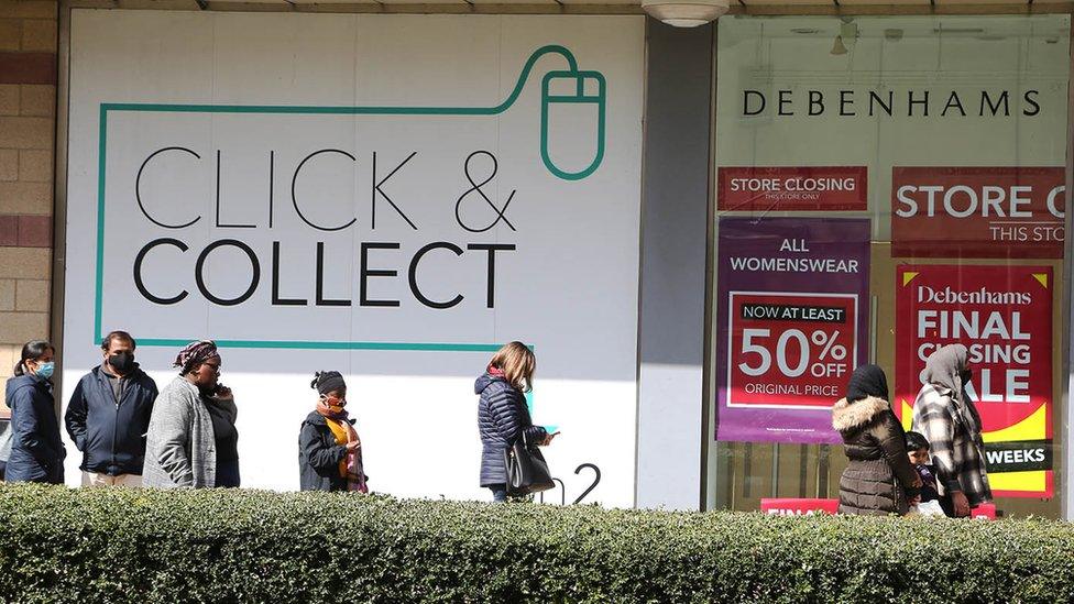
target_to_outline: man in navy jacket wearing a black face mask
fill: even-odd
[[[101,364],[78,381],[64,416],[83,453],[83,486],[140,486],[156,383],[134,362],[134,338],[112,331]]]

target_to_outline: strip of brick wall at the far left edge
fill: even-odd
[[[50,337],[57,11],[0,0],[0,388],[22,344]]]

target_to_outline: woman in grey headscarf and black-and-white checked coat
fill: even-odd
[[[980,414],[966,394],[972,377],[966,347],[942,347],[925,361],[924,385],[913,402],[913,430],[929,441],[941,504],[956,517],[991,501]]]

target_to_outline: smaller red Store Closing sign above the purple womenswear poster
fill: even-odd
[[[866,166],[721,167],[716,207],[725,211],[865,211]]]

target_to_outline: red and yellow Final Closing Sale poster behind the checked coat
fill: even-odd
[[[929,355],[969,350],[988,476],[1006,496],[1052,496],[1052,270],[903,265],[897,272],[896,400],[909,428]]]

